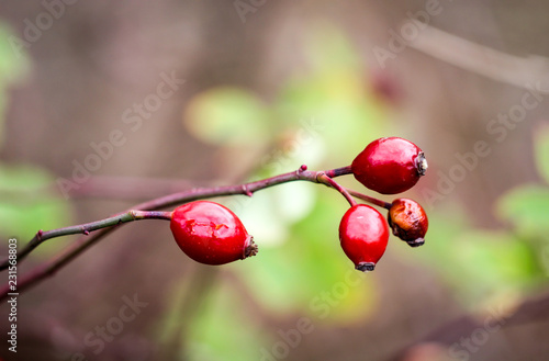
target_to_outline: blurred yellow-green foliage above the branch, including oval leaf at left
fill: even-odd
[[[288,171],[277,167],[280,158],[295,168],[345,157],[350,162],[363,139],[392,134],[385,109],[371,95],[365,66],[344,34],[330,26],[313,29],[307,44],[307,69],[290,77],[272,101],[238,88],[206,90],[187,106],[188,132],[219,146],[285,150],[261,162],[262,171],[255,174],[260,177]],[[271,144],[277,139],[281,142]],[[328,151],[320,159],[322,149]]]

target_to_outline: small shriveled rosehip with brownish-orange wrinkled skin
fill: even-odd
[[[386,216],[393,235],[412,247],[425,242],[429,219],[419,203],[408,199],[394,200]]]

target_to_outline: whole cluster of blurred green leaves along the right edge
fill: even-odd
[[[547,283],[549,275],[549,126],[537,132],[534,155],[545,180],[502,194],[494,214],[503,229],[471,226],[466,210],[453,205],[429,214],[428,244],[414,255],[455,287],[473,309],[516,298]]]

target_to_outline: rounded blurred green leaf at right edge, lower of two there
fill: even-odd
[[[503,195],[496,214],[527,236],[544,236],[549,232],[549,188],[522,185]]]

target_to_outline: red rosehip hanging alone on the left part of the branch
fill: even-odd
[[[227,207],[197,201],[177,207],[170,222],[179,248],[205,264],[223,264],[257,253],[240,219]]]

